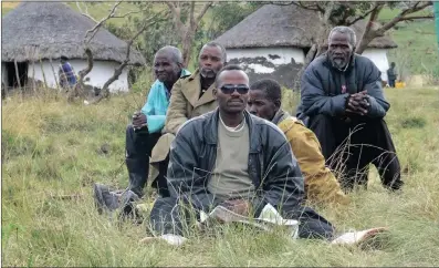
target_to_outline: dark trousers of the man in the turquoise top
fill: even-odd
[[[148,133],[147,131],[135,132],[133,125],[126,127],[126,167],[129,175],[128,189],[136,193],[138,196],[143,196],[143,189],[146,185],[149,174],[149,156],[154,146],[156,145],[160,133]],[[167,161],[159,164],[159,175],[153,187],[157,188],[157,192],[161,196],[169,196],[168,187],[166,184],[166,172]]]

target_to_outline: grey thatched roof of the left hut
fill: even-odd
[[[96,23],[61,2],[22,2],[2,19],[3,62],[86,59],[83,40]],[[88,44],[94,60],[123,62],[127,43],[101,28]],[[144,64],[143,55],[132,49],[129,63]]]

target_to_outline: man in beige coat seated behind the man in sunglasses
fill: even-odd
[[[186,121],[217,109],[215,80],[226,62],[226,49],[221,44],[206,43],[198,58],[198,69],[174,84],[164,127],[166,134],[153,150],[153,166],[167,165],[170,142]],[[151,176],[155,177],[154,174]]]

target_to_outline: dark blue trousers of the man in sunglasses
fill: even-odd
[[[205,212],[209,213],[209,212]],[[299,237],[331,239],[334,227],[310,207],[303,207],[290,215],[299,219]],[[149,216],[154,230],[158,234],[175,234],[185,236],[191,219],[199,219],[199,210],[189,204],[178,202],[174,197],[158,198]]]

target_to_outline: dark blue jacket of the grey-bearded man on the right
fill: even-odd
[[[301,81],[301,104],[297,117],[305,120],[317,114],[345,115],[349,94],[366,90],[370,106],[368,117],[384,117],[390,105],[385,100],[380,71],[367,58],[354,54],[345,71],[334,68],[327,54],[315,59]]]

